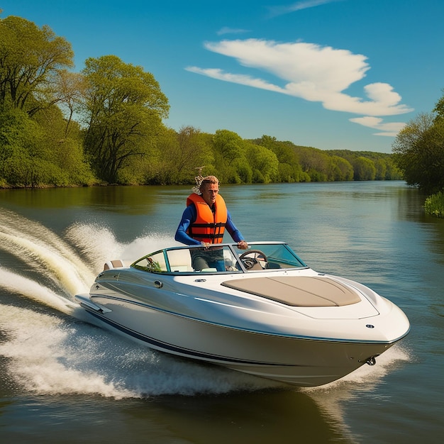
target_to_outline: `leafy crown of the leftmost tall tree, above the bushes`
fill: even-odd
[[[0,19],[0,103],[33,116],[60,101],[60,71],[74,65],[70,43],[48,26],[24,18]]]

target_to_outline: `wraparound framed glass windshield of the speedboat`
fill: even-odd
[[[286,243],[250,243],[248,250],[235,244],[166,248],[142,257],[131,267],[159,273],[244,273],[306,265]]]

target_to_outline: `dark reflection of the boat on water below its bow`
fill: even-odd
[[[162,421],[165,409],[168,423]],[[189,436],[192,443],[352,442],[343,423],[331,421],[310,396],[297,391],[173,396],[157,399],[155,411],[158,416],[152,418],[150,412],[151,421],[163,424],[178,440]],[[145,419],[142,409],[131,409],[131,414]]]

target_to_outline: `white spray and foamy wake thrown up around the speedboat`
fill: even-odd
[[[74,224],[61,237],[11,211],[0,214],[0,356],[10,385],[34,394],[96,394],[146,398],[165,394],[221,394],[282,388],[222,367],[157,353],[87,323],[74,294],[88,292],[104,262],[131,263],[143,252],[172,244],[150,235],[118,243],[108,228]],[[32,301],[32,302],[31,302]],[[91,322],[90,319],[88,319]],[[407,360],[401,348],[339,382],[304,389],[318,401],[356,382],[374,387],[392,365]]]

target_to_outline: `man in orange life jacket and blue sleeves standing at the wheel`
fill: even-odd
[[[186,245],[203,245],[208,249],[211,244],[222,243],[226,229],[233,240],[238,243],[238,248],[246,250],[248,243],[235,227],[225,201],[218,194],[217,177],[204,177],[199,184],[199,192],[200,194],[192,193],[188,196],[187,208],[182,214],[174,239]],[[194,269],[201,270],[213,263],[218,270],[222,271],[221,252],[221,249],[211,249],[204,254],[202,250],[193,250]]]

